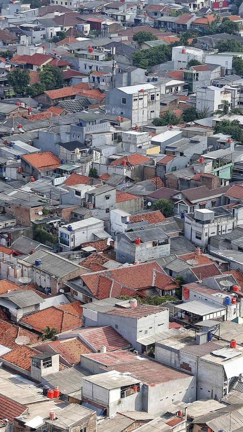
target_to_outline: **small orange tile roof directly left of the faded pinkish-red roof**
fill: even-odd
[[[58,352],[60,357],[66,360],[70,365],[79,363],[82,354],[89,354],[92,352],[92,350],[77,337],[55,340],[53,342],[44,343],[42,346],[46,346],[47,350],[48,347],[54,349]]]

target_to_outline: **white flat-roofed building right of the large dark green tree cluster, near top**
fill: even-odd
[[[198,60],[203,63],[204,51],[199,48],[184,46],[172,48],[172,61],[174,61],[175,69],[185,68],[190,60]]]

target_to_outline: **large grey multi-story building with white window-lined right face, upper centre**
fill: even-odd
[[[120,87],[106,92],[106,113],[131,119],[132,126],[143,126],[159,116],[160,90],[152,84]]]

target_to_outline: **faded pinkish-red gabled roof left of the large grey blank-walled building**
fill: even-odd
[[[73,333],[77,333],[75,330]],[[102,345],[107,351],[116,351],[131,346],[123,336],[117,333],[111,326],[87,327],[78,330],[79,338],[94,351],[99,351]]]

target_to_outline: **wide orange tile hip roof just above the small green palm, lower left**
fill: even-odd
[[[57,329],[58,333],[62,333],[82,326],[82,319],[76,313],[74,315],[74,313],[61,310],[60,307],[51,306],[22,317],[20,323],[39,333],[43,333],[43,329],[47,326],[51,329]]]

